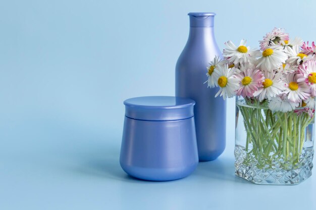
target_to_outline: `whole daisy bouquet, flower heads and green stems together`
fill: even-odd
[[[293,166],[315,109],[316,46],[280,28],[259,43],[258,50],[246,40],[226,42],[224,59],[215,57],[207,67],[207,84],[219,88],[215,97],[243,98],[237,106],[247,132],[245,160],[256,159],[258,168],[273,168],[276,158]]]

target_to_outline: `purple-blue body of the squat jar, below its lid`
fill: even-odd
[[[168,181],[186,177],[198,163],[194,117],[149,121],[125,117],[120,164],[136,178]]]

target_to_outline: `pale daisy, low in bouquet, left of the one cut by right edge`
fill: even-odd
[[[297,82],[295,73],[287,74],[284,80],[285,90],[283,93],[291,102],[300,103],[310,97],[310,88],[304,82]]]

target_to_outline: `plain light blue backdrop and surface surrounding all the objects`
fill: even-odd
[[[0,208],[315,209],[315,170],[296,186],[234,176],[234,99],[226,151],[191,176],[140,181],[118,162],[123,101],[174,95],[188,12],[217,13],[223,49],[242,38],[258,47],[275,26],[313,40],[314,8],[315,1],[1,1]]]

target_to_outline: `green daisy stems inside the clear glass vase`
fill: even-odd
[[[250,100],[238,108],[247,134],[245,160],[255,158],[259,169],[273,168],[276,163],[283,169],[298,165],[305,129],[312,121],[307,113],[273,112],[254,106]]]

